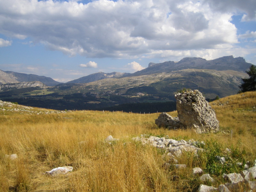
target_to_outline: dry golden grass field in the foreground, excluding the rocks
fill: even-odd
[[[155,119],[159,113],[70,111],[37,115],[8,107],[2,110],[0,105],[0,191],[197,191],[202,182],[192,175],[193,167],[210,173],[215,179],[211,185],[217,187],[225,183],[222,173],[242,170],[236,162],[254,162],[256,158],[256,92],[221,98],[210,105],[220,121],[218,133],[158,128]],[[177,116],[176,111],[168,114]],[[205,150],[198,156],[187,153],[179,157],[179,164],[187,164],[186,169],[165,170],[163,150],[132,141],[141,134],[204,141]],[[104,139],[109,135],[120,140],[108,144]],[[226,157],[229,164],[214,163],[214,155],[227,156],[226,148],[232,150]],[[15,160],[5,156],[15,153]],[[60,166],[74,169],[55,177],[43,174]]]

